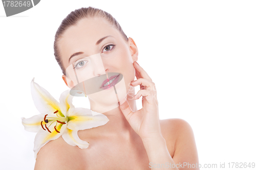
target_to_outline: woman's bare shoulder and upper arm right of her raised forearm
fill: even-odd
[[[174,152],[170,156],[175,163],[199,163],[194,132],[186,120],[180,118],[164,119],[160,120],[160,126],[167,148],[170,145],[173,147]],[[170,142],[174,144],[170,144]]]

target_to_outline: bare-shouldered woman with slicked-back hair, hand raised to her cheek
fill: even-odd
[[[90,143],[87,149],[62,137],[48,142],[35,169],[199,169],[193,165],[198,154],[191,127],[182,119],[159,120],[155,84],[137,63],[136,43],[110,14],[91,7],[71,12],[55,35],[54,55],[66,85],[74,89],[83,83],[91,110],[109,122],[78,131]],[[141,96],[143,108],[137,110]]]

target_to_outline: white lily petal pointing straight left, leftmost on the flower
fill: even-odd
[[[43,114],[37,114],[30,118],[22,117],[22,124],[26,131],[38,132],[41,128],[41,121],[44,120]]]

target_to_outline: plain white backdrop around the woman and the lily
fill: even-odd
[[[135,40],[138,63],[156,83],[160,119],[190,124],[199,163],[256,162],[255,1],[42,0],[11,17],[0,5],[1,169],[34,168],[35,133],[20,119],[39,113],[30,82],[57,100],[68,89],[54,36],[71,11],[89,6],[112,14]],[[74,104],[89,107],[86,98]]]

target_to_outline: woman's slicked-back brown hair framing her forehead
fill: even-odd
[[[74,26],[77,24],[77,22],[83,18],[89,18],[89,17],[101,17],[103,19],[106,19],[111,23],[111,25],[116,28],[118,31],[120,31],[121,35],[123,38],[128,41],[127,36],[124,34],[121,26],[119,23],[116,21],[116,19],[109,14],[108,12],[105,12],[103,10],[93,8],[93,7],[88,7],[88,8],[80,8],[76,9],[75,11],[72,11],[66,18],[64,18],[55,34],[55,39],[54,39],[54,56],[55,59],[57,60],[63,75],[66,75],[66,71],[64,69],[60,53],[59,53],[59,48],[57,46],[58,40],[61,38],[62,34],[68,30],[71,26]]]

